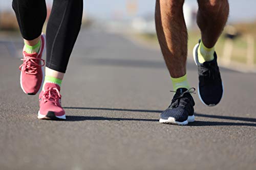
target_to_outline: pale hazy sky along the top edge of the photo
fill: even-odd
[[[36,0],[35,0],[36,1]],[[53,0],[46,0],[51,4]],[[126,2],[128,0],[84,0],[84,12],[87,15],[101,19],[111,19],[113,14],[127,16]],[[135,1],[135,0],[130,0]],[[155,0],[137,0],[137,15],[154,15]],[[12,0],[0,0],[0,10],[11,10]],[[196,0],[185,0],[186,3],[196,6]],[[256,20],[256,1],[255,0],[229,0],[230,21],[250,21]]]

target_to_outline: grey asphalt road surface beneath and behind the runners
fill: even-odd
[[[160,51],[82,31],[62,83],[67,121],[57,122],[37,120],[20,64],[0,43],[0,169],[256,169],[256,75],[222,68],[218,106],[194,95],[195,123],[160,124],[173,96]],[[187,72],[197,87],[196,65]]]

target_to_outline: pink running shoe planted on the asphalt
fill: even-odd
[[[54,83],[46,83],[39,94],[40,110],[37,118],[48,120],[65,120],[65,111],[61,107],[60,87]]]

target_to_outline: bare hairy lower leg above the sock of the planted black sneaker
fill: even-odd
[[[179,78],[186,74],[187,29],[183,4],[184,0],[156,1],[157,37],[172,78]]]

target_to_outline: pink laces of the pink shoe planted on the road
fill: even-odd
[[[57,88],[50,87],[47,90],[44,90],[44,94],[42,94],[42,101],[53,102],[56,106],[58,105],[58,101],[61,98],[59,90]]]

